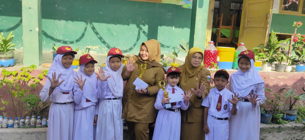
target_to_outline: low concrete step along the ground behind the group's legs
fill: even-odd
[[[46,140],[48,128],[0,128],[0,140]],[[127,126],[123,127],[123,139],[130,140]],[[261,140],[304,140],[305,125],[289,122],[288,124],[260,124]]]

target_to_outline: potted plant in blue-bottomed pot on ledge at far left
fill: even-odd
[[[12,47],[16,46],[11,44],[15,35],[10,32],[6,38],[3,32],[0,33],[0,67],[12,67],[15,65],[14,50]]]

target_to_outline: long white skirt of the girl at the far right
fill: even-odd
[[[252,107],[251,102],[237,102],[239,110],[231,115],[229,122],[229,140],[260,139],[260,107]]]

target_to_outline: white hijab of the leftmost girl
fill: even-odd
[[[68,54],[68,53],[65,53]],[[69,68],[66,68],[61,63],[61,60],[63,58],[63,55],[65,54],[58,54],[54,58],[54,61],[52,62],[51,67],[48,70],[47,76],[52,79],[52,73],[56,72],[56,78],[58,78],[58,75],[61,73],[61,76],[59,78],[59,82],[61,82],[63,79],[65,81],[61,83],[56,89],[58,89],[61,92],[70,92],[72,91],[74,87],[74,77],[76,77],[76,72],[74,72],[72,65]],[[72,54],[72,53],[70,53]],[[73,60],[75,58],[75,55],[73,55]]]

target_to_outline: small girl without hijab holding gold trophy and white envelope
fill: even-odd
[[[177,140],[180,139],[181,114],[180,108],[186,110],[188,108],[188,100],[192,97],[190,91],[185,91],[177,86],[180,77],[178,67],[170,67],[167,69],[167,85],[163,87],[168,94],[182,94],[183,101],[169,102],[170,98],[163,97],[163,90],[160,89],[157,95],[155,108],[160,109],[156,119],[153,140]],[[159,83],[160,84],[160,83]],[[181,98],[182,99],[182,98]],[[172,108],[168,108],[167,105]],[[167,108],[167,109],[165,109]]]

